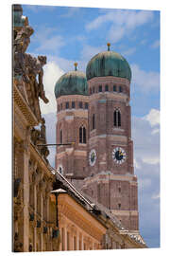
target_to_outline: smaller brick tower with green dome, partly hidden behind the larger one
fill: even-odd
[[[55,86],[57,143],[71,143],[57,146],[56,169],[78,185],[86,176],[89,97],[86,76],[76,65]]]

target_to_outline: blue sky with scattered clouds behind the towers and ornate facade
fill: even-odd
[[[48,105],[41,103],[47,139],[55,141],[55,82],[73,70],[85,72],[94,54],[110,50],[131,66],[132,137],[139,180],[140,231],[148,247],[160,246],[160,11],[23,5],[34,28],[27,52],[46,55],[43,83]],[[53,131],[53,133],[51,132]],[[50,162],[54,165],[55,151]]]

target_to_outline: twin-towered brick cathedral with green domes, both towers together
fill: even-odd
[[[85,79],[87,89],[83,91]],[[69,173],[76,188],[111,210],[126,229],[137,233],[138,183],[133,168],[130,80],[129,64],[123,56],[110,51],[110,44],[108,51],[98,53],[87,64],[86,75],[75,70],[59,79],[55,86],[57,143],[62,136],[63,143],[74,142],[76,148],[74,151],[74,146],[66,146],[62,152],[58,148],[56,168],[62,166],[62,174]],[[73,107],[76,99],[79,102]],[[83,99],[88,101],[87,109]],[[59,127],[63,127],[62,134]],[[82,155],[81,160],[77,155]]]

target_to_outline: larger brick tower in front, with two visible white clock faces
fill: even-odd
[[[138,231],[137,177],[133,169],[130,79],[125,58],[110,51],[86,69],[89,90],[88,177],[83,191],[111,210],[125,228]]]

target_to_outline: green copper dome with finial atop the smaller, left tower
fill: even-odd
[[[88,84],[86,75],[76,69],[62,75],[55,85],[55,96],[66,95],[88,95]]]

